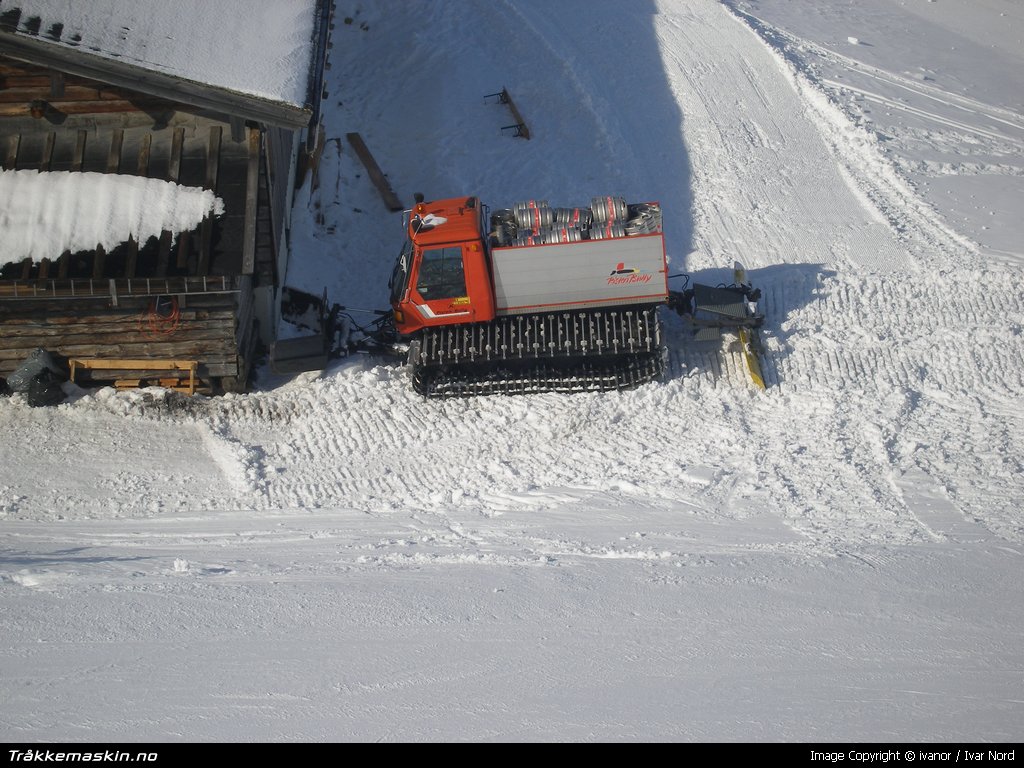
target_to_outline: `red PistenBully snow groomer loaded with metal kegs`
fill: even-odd
[[[529,201],[490,212],[472,197],[427,203],[418,195],[403,226],[390,303],[422,394],[624,389],[659,379],[662,305],[705,336],[745,334],[760,381],[751,336],[763,321],[759,292],[744,280],[670,291],[656,203]]]

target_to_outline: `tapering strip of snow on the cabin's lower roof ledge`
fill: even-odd
[[[0,171],[0,265],[111,250],[198,226],[224,206],[209,189],[110,173]]]

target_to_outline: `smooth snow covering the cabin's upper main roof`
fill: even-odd
[[[0,0],[17,33],[162,75],[306,105],[316,0]],[[7,22],[10,24],[10,20]]]

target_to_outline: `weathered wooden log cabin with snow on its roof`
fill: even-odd
[[[244,390],[279,321],[297,169],[319,133],[332,2],[265,4],[287,23],[252,18],[260,4],[248,0],[82,5],[62,17],[69,4],[56,0],[0,0],[3,170],[163,179],[213,190],[223,214],[38,260],[3,254],[0,239],[0,377],[42,347],[126,361],[80,367],[96,381],[189,360],[208,390]]]

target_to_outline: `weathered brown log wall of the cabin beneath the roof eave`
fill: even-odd
[[[0,377],[42,347],[77,357],[196,359],[208,383],[244,388],[259,341],[254,292],[280,280],[275,256],[291,204],[285,187],[296,134],[273,130],[264,144],[259,129],[232,132],[226,116],[0,57],[4,169],[161,178],[213,189],[225,209],[177,237],[0,268]],[[226,280],[229,290],[197,288],[207,279]],[[174,281],[193,283],[182,290]],[[154,319],[161,298],[177,302],[173,328]]]

